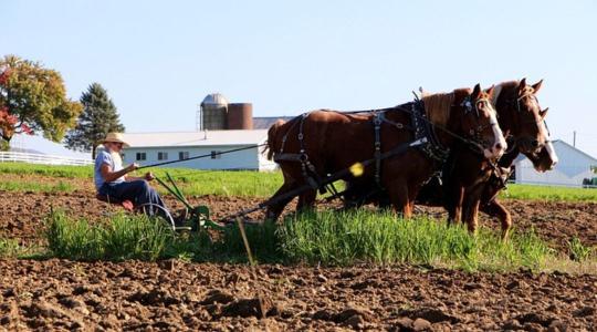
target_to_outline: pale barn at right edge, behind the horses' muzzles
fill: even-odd
[[[554,169],[538,173],[533,168],[531,160],[521,155],[514,163],[514,181],[516,184],[582,187],[584,179],[597,177],[595,174],[596,158],[561,139],[554,141],[553,145],[559,158]]]

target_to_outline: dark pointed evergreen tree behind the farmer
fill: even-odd
[[[83,113],[78,116],[76,126],[66,133],[66,147],[83,152],[92,152],[95,158],[97,143],[107,133],[125,131],[121,124],[116,106],[108,97],[106,90],[100,83],[90,85],[81,95]]]

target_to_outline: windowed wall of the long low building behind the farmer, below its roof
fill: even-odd
[[[235,148],[242,148],[243,146],[179,146],[179,147],[129,147],[123,151],[125,157],[123,159],[124,166],[130,163],[138,163],[142,166],[158,164],[164,162],[178,160],[179,152],[188,152],[189,157],[209,155],[212,151],[226,152]],[[158,160],[158,153],[168,153],[168,159]],[[219,159],[212,159],[211,157],[205,157],[199,159],[178,162],[165,165],[164,167],[184,167],[196,169],[254,169],[254,170],[271,170],[274,169],[275,164],[266,160],[264,156],[260,156],[261,149],[258,147],[249,148],[244,151],[233,152],[230,154],[220,155]],[[145,160],[136,160],[137,153],[145,153]]]

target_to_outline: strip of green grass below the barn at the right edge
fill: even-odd
[[[527,200],[565,200],[597,203],[597,189],[515,185],[507,186],[501,197]]]

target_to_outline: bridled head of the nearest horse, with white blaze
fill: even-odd
[[[479,145],[488,159],[499,159],[507,148],[502,129],[498,124],[496,112],[491,98],[493,86],[483,91],[476,84],[472,93],[464,96],[463,101],[453,106],[459,108],[459,118],[454,118],[460,126],[458,132],[464,138]],[[470,92],[470,90],[468,90]],[[454,122],[452,122],[454,123]]]

